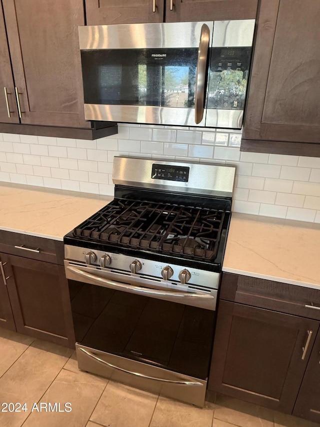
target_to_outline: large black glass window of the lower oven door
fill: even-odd
[[[196,378],[208,375],[214,311],[68,280],[76,341]]]

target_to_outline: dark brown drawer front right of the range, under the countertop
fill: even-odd
[[[220,299],[320,320],[320,287],[223,273]]]

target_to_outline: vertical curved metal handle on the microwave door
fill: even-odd
[[[206,24],[201,27],[198,62],[195,76],[195,123],[201,122],[204,111],[205,72],[208,56],[210,30]]]

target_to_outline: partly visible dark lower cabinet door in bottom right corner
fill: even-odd
[[[293,415],[320,423],[320,333],[312,348]]]

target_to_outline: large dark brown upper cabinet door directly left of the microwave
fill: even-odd
[[[3,0],[21,123],[90,127],[84,121],[77,26],[82,0]]]

